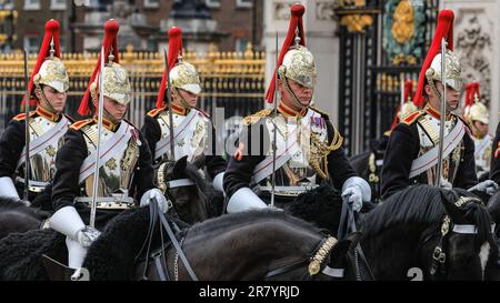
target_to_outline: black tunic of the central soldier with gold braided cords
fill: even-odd
[[[328,115],[322,114],[322,118],[327,122],[327,132],[328,132],[328,141],[331,143],[333,140],[333,125],[328,120]],[[260,148],[257,150],[254,147],[251,145],[251,131],[249,125],[248,128],[243,129],[242,133],[240,134],[240,141],[246,142],[246,154],[243,155],[240,161],[236,160],[234,156],[231,156],[228,163],[228,170],[224,174],[224,192],[228,198],[230,198],[233,193],[236,193],[241,188],[250,188],[253,184],[250,184],[251,178],[253,175],[253,170],[257,164],[259,164],[262,160],[266,159],[266,153],[269,151],[269,131],[266,129],[266,123],[260,123],[262,125],[262,129],[259,132],[260,135]],[[317,174],[317,184],[321,184],[322,182],[329,182],[332,183],[333,186],[337,190],[341,190],[343,183],[346,180],[348,180],[351,176],[358,175],[354,169],[351,166],[349,160],[346,156],[346,152],[342,147],[340,147],[338,150],[334,150],[330,152],[327,155],[328,159],[328,172],[330,174],[330,181],[321,180],[321,178]],[[278,169],[276,172],[276,180],[277,185],[280,184],[280,180],[287,180],[284,171],[282,168]],[[266,179],[261,181],[263,184],[266,182]],[[284,182],[286,185],[286,182]],[[260,195],[260,198],[269,203],[269,195]],[[276,198],[279,199],[279,198]],[[279,201],[278,201],[279,202]],[[281,201],[281,202],[288,202],[288,201]]]

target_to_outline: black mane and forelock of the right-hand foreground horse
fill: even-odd
[[[454,203],[460,196],[474,196],[462,190],[442,190],[430,185],[417,185],[391,195],[380,206],[362,219],[364,235],[377,234],[384,229],[419,225],[428,228],[440,224],[444,215],[441,199]],[[476,198],[476,196],[474,196]],[[488,236],[491,219],[487,209],[479,203],[468,203],[462,213],[471,224],[478,225],[478,241]]]

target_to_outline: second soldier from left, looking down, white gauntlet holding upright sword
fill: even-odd
[[[144,206],[156,198],[160,210],[167,211],[164,196],[152,184],[148,144],[140,131],[123,119],[132,91],[127,71],[119,64],[118,29],[117,21],[106,22],[99,62],[79,108],[79,113],[86,115],[93,105],[94,117],[71,125],[56,159],[56,213],[50,226],[67,235],[68,263],[73,269],[81,266],[87,249],[99,235],[97,229],[122,210],[136,206],[137,200]],[[94,209],[97,215],[90,218],[90,226],[86,225]]]

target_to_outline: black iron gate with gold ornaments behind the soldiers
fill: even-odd
[[[438,1],[339,0],[339,130],[348,154],[389,130],[401,83],[417,87],[432,41]]]

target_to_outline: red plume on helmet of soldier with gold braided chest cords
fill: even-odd
[[[269,89],[266,92],[266,99],[269,103],[272,103],[272,100],[274,98],[274,90],[276,90],[276,73],[278,72],[278,68],[283,63],[283,58],[289,51],[290,47],[294,44],[294,38],[296,38],[296,31],[298,30],[299,37],[300,37],[300,44],[302,47],[306,47],[306,37],[303,32],[303,22],[302,22],[302,16],[306,12],[306,8],[300,4],[296,3],[291,7],[291,17],[290,17],[290,26],[288,27],[288,33],[287,38],[284,39],[283,44],[281,46],[281,52],[280,57],[278,58],[277,62],[277,70],[274,70],[273,77],[271,79],[271,83],[269,84]],[[277,50],[278,51],[278,50]]]

